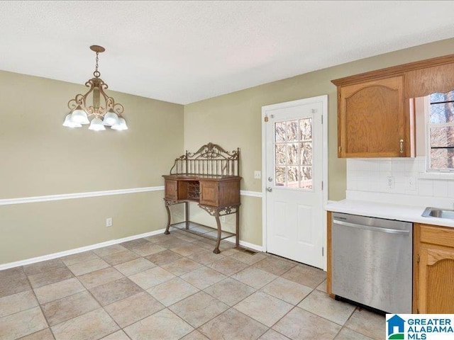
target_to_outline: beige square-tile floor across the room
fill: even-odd
[[[0,271],[0,340],[383,339],[323,271],[175,230]]]

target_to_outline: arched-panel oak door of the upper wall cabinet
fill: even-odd
[[[340,94],[341,157],[404,156],[403,77],[343,86]]]

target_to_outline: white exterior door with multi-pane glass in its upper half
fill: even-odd
[[[267,251],[323,268],[322,123],[326,96],[263,110],[267,120]]]

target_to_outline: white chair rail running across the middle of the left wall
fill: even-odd
[[[51,200],[72,200],[74,198],[88,198],[99,196],[123,195],[125,193],[146,193],[148,191],[164,190],[164,186],[148,186],[145,188],[128,188],[105,191],[89,191],[87,193],[62,193],[58,195],[33,196],[21,198],[4,198],[0,200],[0,205],[12,205],[23,203],[49,202]]]

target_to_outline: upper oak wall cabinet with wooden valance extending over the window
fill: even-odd
[[[332,82],[338,87],[338,157],[414,157],[411,99],[454,89],[454,55]]]

